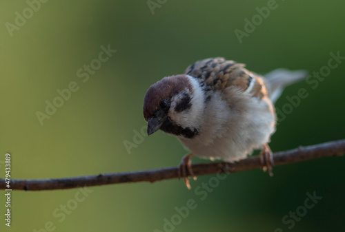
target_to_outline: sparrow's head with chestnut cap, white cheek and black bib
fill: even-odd
[[[182,74],[167,76],[150,86],[144,100],[148,135],[158,129],[175,136],[199,134],[204,111],[204,93],[195,78]]]

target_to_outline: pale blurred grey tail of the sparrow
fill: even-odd
[[[308,76],[308,72],[306,72],[306,70],[291,71],[279,68],[268,72],[268,74],[264,75],[264,79],[271,101],[275,103],[282,94],[284,87],[297,81],[302,81],[306,76]]]

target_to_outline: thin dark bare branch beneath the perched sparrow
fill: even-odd
[[[308,147],[298,147],[289,151],[280,151],[274,154],[275,166],[288,165],[305,160],[313,160],[329,156],[342,156],[345,154],[345,140],[338,140]],[[261,169],[259,157],[253,156],[235,163],[210,162],[193,165],[195,176],[209,175],[220,172],[234,173],[237,171],[247,171]],[[42,180],[11,180],[11,189],[17,190],[52,190],[52,189],[72,189],[84,186],[96,186],[104,184],[120,184],[129,182],[155,182],[157,180],[168,180],[178,178],[177,167],[155,169],[147,171],[128,171],[122,173],[106,173],[97,176],[79,176],[61,179]],[[6,189],[4,179],[0,179],[0,189]]]

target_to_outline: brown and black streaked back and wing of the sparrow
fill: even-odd
[[[249,72],[242,63],[226,61],[224,58],[210,58],[189,65],[184,72],[209,87],[221,91],[229,86],[237,86],[244,92],[259,99],[267,96],[267,90],[262,78]]]

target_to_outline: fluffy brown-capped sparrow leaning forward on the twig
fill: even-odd
[[[304,70],[274,70],[259,76],[245,65],[210,58],[189,65],[183,74],[151,85],[144,98],[148,136],[157,130],[176,136],[190,150],[179,164],[188,189],[191,158],[236,162],[261,149],[264,171],[272,176],[268,146],[277,117],[273,103],[286,85],[306,77]]]

